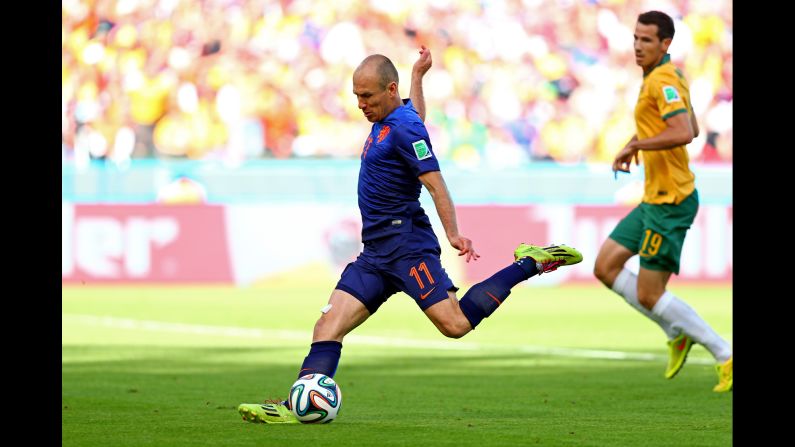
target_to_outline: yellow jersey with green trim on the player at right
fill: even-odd
[[[679,113],[693,114],[687,80],[671,56],[643,75],[638,103],[635,105],[635,127],[638,140],[650,138],[665,130],[665,120]],[[646,174],[643,201],[646,203],[679,204],[695,190],[696,176],[690,171],[690,157],[685,145],[670,149],[644,151]]]

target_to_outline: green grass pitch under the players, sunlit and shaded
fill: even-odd
[[[595,284],[517,287],[460,340],[394,295],[343,342],[337,420],[242,421],[286,396],[332,287],[64,286],[63,445],[732,444],[709,353],[665,380],[662,331]],[[730,286],[671,290],[731,342]]]

